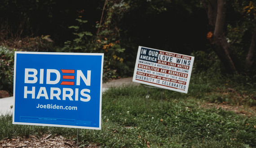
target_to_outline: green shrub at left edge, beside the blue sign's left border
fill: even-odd
[[[14,51],[0,46],[0,90],[13,93]]]

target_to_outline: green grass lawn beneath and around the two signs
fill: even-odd
[[[200,77],[200,76],[198,76]],[[79,130],[79,145],[97,144],[102,147],[172,147],[172,148],[249,148],[256,147],[256,117],[232,111],[203,108],[203,102],[238,103],[233,96],[253,99],[255,91],[238,91],[218,78],[191,78],[188,94],[128,86],[110,88],[102,96],[102,130]],[[227,88],[232,88],[230,91]],[[239,87],[240,89],[240,87]],[[250,91],[250,92],[249,92]],[[225,100],[226,99],[226,100]],[[249,101],[240,102],[244,106]],[[34,133],[57,134],[76,140],[76,129],[34,126]],[[11,116],[0,117],[0,139],[29,136],[33,126],[12,125]]]

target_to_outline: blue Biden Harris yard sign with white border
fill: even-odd
[[[100,130],[103,57],[15,52],[13,124]]]

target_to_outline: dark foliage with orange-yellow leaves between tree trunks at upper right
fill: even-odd
[[[226,39],[230,44],[232,52],[238,58],[235,60],[239,65],[239,73],[255,75],[255,62],[250,70],[245,71],[246,57],[252,42],[256,22],[255,0],[234,0],[227,6],[226,17]],[[236,16],[236,17],[233,17]]]

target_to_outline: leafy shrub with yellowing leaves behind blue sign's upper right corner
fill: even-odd
[[[116,32],[110,28],[105,28],[105,30],[100,30],[97,35],[93,35],[84,28],[88,21],[81,18],[76,19],[76,21],[78,26],[69,27],[74,30],[73,35],[75,37],[72,41],[65,42],[62,51],[104,53],[103,80],[124,76],[129,68],[124,64],[125,49],[121,48],[120,41],[116,39]],[[104,24],[108,24],[108,21]]]

